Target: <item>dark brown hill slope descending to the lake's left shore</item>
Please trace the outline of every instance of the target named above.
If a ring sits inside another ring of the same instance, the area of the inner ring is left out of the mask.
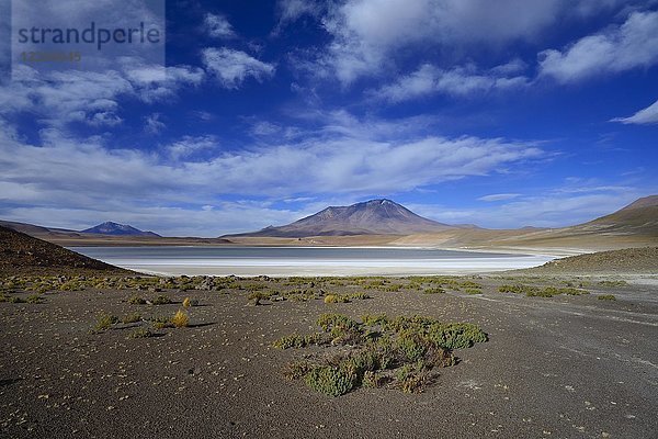
[[[131,273],[128,270],[0,226],[0,275],[70,274],[71,272]]]

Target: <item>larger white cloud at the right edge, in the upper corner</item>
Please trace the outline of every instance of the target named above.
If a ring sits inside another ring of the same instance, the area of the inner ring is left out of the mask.
[[[658,63],[658,12],[633,12],[620,26],[540,57],[540,75],[563,83],[653,66]]]

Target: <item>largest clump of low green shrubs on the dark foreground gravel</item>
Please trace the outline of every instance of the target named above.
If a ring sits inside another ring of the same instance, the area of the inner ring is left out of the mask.
[[[451,349],[486,341],[487,335],[473,324],[443,324],[429,317],[365,315],[362,323],[341,314],[322,314],[318,320],[324,333],[291,335],[274,342],[276,347],[326,345],[331,339],[333,354],[324,361],[305,359],[288,364],[288,379],[305,378],[318,392],[338,396],[359,386],[392,386],[404,392],[421,392],[431,382],[433,368],[455,364]],[[373,329],[376,330],[373,330]],[[321,340],[321,341],[318,341]]]

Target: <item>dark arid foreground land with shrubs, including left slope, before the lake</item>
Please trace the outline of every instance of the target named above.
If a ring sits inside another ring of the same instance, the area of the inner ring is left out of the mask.
[[[658,431],[656,247],[468,277],[158,278],[0,232],[1,437]]]

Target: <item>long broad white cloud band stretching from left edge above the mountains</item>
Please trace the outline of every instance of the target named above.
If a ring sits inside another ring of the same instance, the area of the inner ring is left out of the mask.
[[[16,205],[87,210],[110,209],[123,200],[137,207],[180,200],[214,205],[227,195],[358,196],[487,176],[544,155],[532,144],[409,135],[411,128],[405,138],[383,140],[383,133],[406,124],[356,125],[347,116],[344,123],[334,117],[327,126],[300,132],[294,143],[260,143],[235,150],[217,148],[214,137],[186,136],[159,154],[110,148],[100,137],[73,138],[59,130],[42,132],[43,145],[34,146],[2,130],[0,198]]]

